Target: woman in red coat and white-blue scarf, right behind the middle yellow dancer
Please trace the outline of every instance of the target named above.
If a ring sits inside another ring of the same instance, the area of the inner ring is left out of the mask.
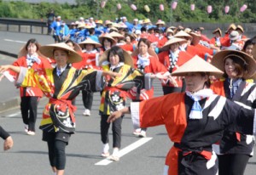
[[[143,71],[144,73],[152,73],[157,74],[161,73],[166,76],[169,76],[170,73],[167,71],[166,67],[162,65],[157,57],[157,54],[154,53],[152,49],[150,49],[150,42],[146,38],[141,38],[137,44],[137,50],[135,50],[131,56],[133,58],[134,67],[139,71]],[[170,83],[175,84],[176,82],[170,76]],[[134,92],[137,93],[137,92]],[[145,99],[151,99],[154,96],[154,88],[149,90],[142,89],[139,92],[139,96],[134,97],[133,101],[142,101]],[[134,135],[138,137],[145,138],[146,137],[146,129],[147,128],[135,128],[136,130],[133,132]]]

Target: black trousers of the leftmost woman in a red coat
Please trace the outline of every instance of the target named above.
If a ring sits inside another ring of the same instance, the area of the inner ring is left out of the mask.
[[[20,110],[23,122],[28,125],[29,131],[36,131],[35,125],[38,115],[38,97],[21,97]]]

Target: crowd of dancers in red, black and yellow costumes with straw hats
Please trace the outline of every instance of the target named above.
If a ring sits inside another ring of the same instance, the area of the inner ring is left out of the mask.
[[[174,144],[164,174],[241,175],[253,156],[256,133],[254,41],[242,38],[241,29],[232,24],[223,38],[219,29],[213,31],[214,43],[199,28],[180,27],[140,36],[113,29],[99,36],[99,42],[87,38],[40,46],[30,39],[19,59],[1,65],[0,73],[20,88],[28,135],[36,132],[38,100],[43,94],[49,98],[39,128],[57,175],[64,174],[65,149],[75,133],[79,91],[84,116],[90,116],[93,93],[101,93],[102,157],[119,161],[122,119],[131,114],[138,137],[146,137],[148,127],[166,126]],[[164,93],[158,98],[152,87],[155,78]],[[132,100],[128,107],[126,98]]]

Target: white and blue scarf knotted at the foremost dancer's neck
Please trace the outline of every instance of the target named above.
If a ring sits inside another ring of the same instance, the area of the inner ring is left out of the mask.
[[[201,105],[199,104],[199,100],[210,97],[213,94],[212,89],[206,88],[196,93],[186,91],[186,94],[194,100],[194,104],[189,114],[189,119],[202,119],[202,109]]]

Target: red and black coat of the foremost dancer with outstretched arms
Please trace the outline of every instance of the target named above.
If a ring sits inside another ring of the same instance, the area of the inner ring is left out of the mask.
[[[194,159],[187,159],[186,155],[178,157],[177,152],[190,151],[192,155],[195,153],[194,150],[201,150],[202,154],[204,150],[212,152],[212,144],[222,137],[225,128],[232,125],[236,131],[252,134],[253,125],[256,126],[253,123],[255,110],[242,108],[216,94],[212,94],[202,104],[204,110],[201,120],[189,120],[189,109],[192,105],[193,100],[185,93],[171,93],[140,103],[131,103],[131,119],[134,127],[165,125],[168,137],[172,142],[181,145],[182,150],[172,147],[166,156],[166,167],[168,167],[166,172],[169,175],[195,174],[197,170],[202,169],[206,172],[201,174],[216,174],[216,172],[210,173],[212,168],[218,170],[216,168],[218,164],[214,161],[216,156],[214,159],[212,155],[209,161],[209,158],[205,157],[204,160],[202,156],[199,167],[193,167],[194,164],[189,162]],[[184,169],[178,172],[178,166],[181,163]],[[185,170],[186,167],[188,168]],[[189,170],[190,173],[183,172]]]

